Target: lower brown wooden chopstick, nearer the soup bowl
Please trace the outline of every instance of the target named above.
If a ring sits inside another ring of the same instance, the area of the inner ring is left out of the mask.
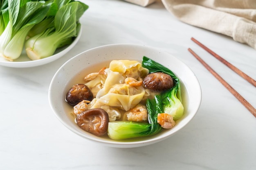
[[[207,63],[205,63],[195,52],[193,52],[193,50],[190,48],[188,50],[196,59],[198,59],[198,61],[200,61],[200,63],[202,63],[202,65],[204,65],[207,70],[209,70],[209,72],[211,72],[211,74],[213,74],[213,76],[218,79],[218,81],[220,81],[220,83],[222,83],[222,85],[224,85],[229,90],[229,92],[231,92],[231,94],[233,94],[253,114],[253,116],[256,117],[256,109],[249,102],[247,102],[245,98],[236,92],[236,90],[231,87],[229,83],[227,83],[219,74],[217,74]]]

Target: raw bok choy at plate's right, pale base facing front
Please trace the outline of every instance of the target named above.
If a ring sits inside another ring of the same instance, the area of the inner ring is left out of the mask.
[[[27,39],[25,48],[28,57],[32,60],[49,57],[57,48],[71,44],[73,37],[79,33],[79,18],[86,9],[88,6],[79,1],[63,5],[54,17],[53,27]]]

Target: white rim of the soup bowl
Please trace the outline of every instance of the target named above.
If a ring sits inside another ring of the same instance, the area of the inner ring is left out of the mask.
[[[88,53],[90,51],[94,51],[94,50],[98,50],[99,48],[111,48],[111,47],[120,47],[120,46],[130,46],[130,47],[135,47],[135,48],[147,48],[147,49],[151,49],[151,50],[158,50],[158,51],[161,51],[161,53],[163,54],[166,54],[166,55],[169,55],[169,56],[172,56],[174,57],[175,59],[177,59],[181,64],[183,64],[191,73],[194,74],[194,72],[191,70],[191,68],[189,68],[188,65],[186,65],[183,61],[181,61],[180,59],[178,59],[177,57],[159,49],[159,48],[153,48],[153,47],[150,47],[150,46],[145,46],[145,45],[138,45],[138,44],[108,44],[108,45],[103,45],[103,46],[97,46],[97,47],[94,47],[94,48],[91,48],[91,49],[88,49],[88,50],[85,50],[77,55],[75,55],[74,57],[70,58],[69,60],[67,60],[57,71],[56,73],[54,74],[53,78],[52,78],[52,81],[50,82],[50,85],[49,85],[49,95],[48,95],[48,99],[49,99],[49,104],[50,104],[50,107],[52,108],[52,110],[54,111],[54,114],[56,116],[56,118],[58,118],[58,120],[67,128],[69,129],[70,131],[74,132],[75,134],[85,138],[85,139],[88,139],[88,140],[91,140],[91,141],[94,141],[94,142],[97,142],[97,143],[100,143],[100,144],[104,144],[106,146],[110,146],[110,147],[116,147],[116,148],[132,148],[132,147],[140,147],[140,146],[146,146],[146,145],[149,145],[149,144],[154,144],[154,143],[157,143],[157,142],[160,142],[172,135],[174,135],[175,133],[177,133],[177,131],[179,131],[180,129],[184,128],[184,126],[186,126],[196,115],[196,113],[198,112],[198,109],[200,108],[200,105],[201,105],[201,102],[202,102],[202,89],[201,89],[201,86],[200,86],[200,83],[198,81],[198,78],[195,76],[195,83],[197,84],[197,88],[198,88],[198,101],[197,101],[197,105],[198,107],[196,107],[194,110],[193,110],[193,114],[189,114],[188,117],[187,117],[187,122],[181,126],[180,128],[178,129],[174,129],[171,133],[171,135],[165,135],[165,136],[160,136],[160,137],[153,137],[151,139],[146,139],[146,140],[142,140],[142,141],[131,141],[131,142],[120,142],[120,141],[110,141],[110,140],[102,140],[100,137],[92,137],[92,136],[85,136],[83,134],[81,134],[80,132],[76,131],[75,129],[73,129],[69,124],[67,124],[65,121],[63,121],[61,119],[61,116],[59,116],[58,113],[56,113],[55,109],[54,109],[54,106],[52,105],[52,98],[51,98],[51,87],[54,83],[54,79],[58,76],[58,73],[63,69],[63,67],[65,67],[66,65],[68,65],[68,63],[70,63],[70,61],[78,58],[79,56],[81,56],[82,54],[85,54],[85,53]],[[181,80],[182,81],[182,80]]]

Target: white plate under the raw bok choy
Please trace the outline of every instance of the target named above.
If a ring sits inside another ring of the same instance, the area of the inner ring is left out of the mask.
[[[44,59],[39,59],[39,60],[33,61],[33,60],[29,59],[29,57],[27,57],[26,51],[25,51],[25,49],[23,49],[21,56],[14,61],[8,61],[8,60],[4,59],[3,57],[0,57],[0,65],[7,66],[7,67],[13,67],[13,68],[29,68],[29,67],[35,67],[38,65],[50,63],[52,61],[55,61],[56,59],[59,59],[60,57],[65,55],[69,50],[71,50],[78,42],[79,38],[81,37],[81,34],[82,34],[82,27],[79,31],[79,34],[72,42],[72,44],[70,44],[69,46],[64,46],[62,48],[58,48],[54,52],[54,55],[52,55],[50,57],[46,57]]]

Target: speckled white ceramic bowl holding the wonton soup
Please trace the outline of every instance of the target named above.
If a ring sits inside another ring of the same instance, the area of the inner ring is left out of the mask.
[[[79,128],[71,116],[72,109],[70,108],[72,107],[65,102],[65,95],[68,89],[76,83],[84,83],[83,77],[86,74],[97,72],[104,66],[108,67],[110,61],[114,59],[141,61],[143,56],[166,66],[180,78],[184,116],[180,120],[177,120],[176,125],[172,129],[162,131],[157,135],[124,141],[112,140],[107,137],[97,137]],[[201,87],[198,79],[186,64],[162,50],[132,44],[101,46],[76,55],[59,68],[49,86],[50,106],[58,120],[68,129],[85,139],[118,148],[146,146],[170,137],[182,129],[195,116],[200,107],[201,98]]]

